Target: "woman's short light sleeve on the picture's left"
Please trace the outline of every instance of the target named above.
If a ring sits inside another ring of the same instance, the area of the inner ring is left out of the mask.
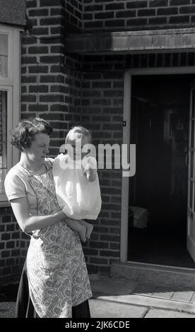
[[[8,172],[4,186],[8,201],[11,201],[15,198],[26,197],[25,184],[20,179],[18,174],[14,172]]]

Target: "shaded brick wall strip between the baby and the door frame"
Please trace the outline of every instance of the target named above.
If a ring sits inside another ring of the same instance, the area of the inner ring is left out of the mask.
[[[93,143],[122,143],[123,56],[83,57],[82,124],[92,131]],[[121,170],[99,170],[102,210],[88,247],[90,273],[109,273],[119,260],[121,220]]]

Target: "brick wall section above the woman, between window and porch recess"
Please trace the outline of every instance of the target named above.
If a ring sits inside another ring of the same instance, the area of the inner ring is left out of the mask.
[[[27,1],[33,28],[22,40],[21,114],[22,119],[39,115],[51,122],[50,153],[56,155],[69,126],[80,121],[80,61],[78,56],[64,57],[64,4],[68,2],[40,0],[39,7],[38,3]]]

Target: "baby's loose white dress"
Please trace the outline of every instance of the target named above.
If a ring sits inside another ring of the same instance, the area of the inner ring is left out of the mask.
[[[83,167],[87,165],[97,169],[95,158],[84,158]],[[57,201],[61,209],[70,218],[98,218],[102,206],[98,172],[94,182],[88,181],[83,174],[81,160],[71,160],[63,153],[57,155],[53,163],[53,177]]]

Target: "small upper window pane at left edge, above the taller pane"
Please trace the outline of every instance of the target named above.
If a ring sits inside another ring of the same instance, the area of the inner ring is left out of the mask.
[[[8,36],[0,33],[0,77],[8,77]]]

